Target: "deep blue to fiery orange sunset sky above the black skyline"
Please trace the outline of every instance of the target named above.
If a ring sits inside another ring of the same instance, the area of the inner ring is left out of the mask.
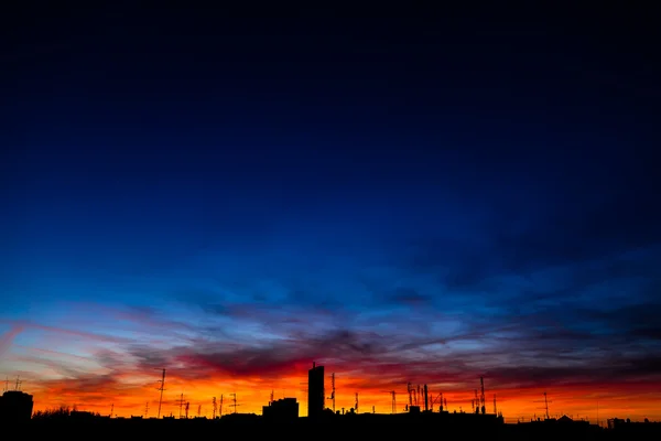
[[[278,12],[10,17],[9,387],[304,416],[316,362],[337,409],[661,419],[650,15]]]

